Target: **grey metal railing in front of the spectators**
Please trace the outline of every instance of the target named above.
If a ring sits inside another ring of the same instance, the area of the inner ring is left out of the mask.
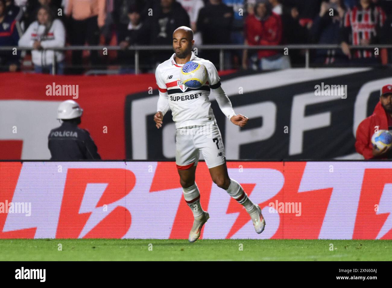
[[[22,51],[30,51],[34,50],[32,47],[12,47],[12,46],[3,46],[0,47],[0,51],[13,51],[13,49],[19,49]],[[295,44],[295,45],[194,45],[193,49],[200,50],[219,50],[219,63],[220,63],[220,71],[224,69],[224,51],[225,50],[281,50],[289,51],[292,50],[305,50],[305,68],[309,68],[310,65],[310,50],[317,49],[341,49],[339,44]],[[350,46],[350,49],[383,49],[383,48],[392,48],[392,44],[380,44],[380,45],[357,45]],[[80,50],[97,50],[104,51],[107,50],[117,50],[117,51],[135,51],[135,74],[139,74],[139,51],[141,50],[169,50],[172,51],[172,45],[131,45],[125,49],[120,46],[66,46],[66,47],[57,47],[57,48],[48,48],[42,49],[42,51],[80,51]],[[56,74],[56,53],[53,53],[53,63],[52,63],[52,74]]]

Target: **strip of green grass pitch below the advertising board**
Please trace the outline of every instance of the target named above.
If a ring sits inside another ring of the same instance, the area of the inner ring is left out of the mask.
[[[0,251],[0,261],[391,261],[392,241],[0,239]]]

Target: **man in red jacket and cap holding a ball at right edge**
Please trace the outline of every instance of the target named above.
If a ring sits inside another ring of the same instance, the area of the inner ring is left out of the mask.
[[[365,159],[392,159],[392,149],[385,147],[377,150],[372,145],[372,136],[377,130],[392,132],[392,85],[385,85],[381,89],[380,101],[374,112],[363,120],[356,132],[355,149]]]

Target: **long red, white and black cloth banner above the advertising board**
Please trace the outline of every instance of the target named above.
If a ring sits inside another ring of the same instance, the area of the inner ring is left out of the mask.
[[[232,160],[361,159],[354,148],[356,129],[373,113],[381,87],[392,83],[392,69],[219,74],[235,112],[250,119],[246,129],[233,125],[211,92],[225,155]],[[153,73],[1,75],[7,81],[0,93],[0,159],[49,159],[47,137],[60,125],[57,107],[74,99],[84,109],[80,127],[89,130],[102,159],[174,160],[176,129],[171,110],[163,118],[163,129],[156,129],[153,121],[159,97]],[[342,94],[334,86],[347,89]],[[78,93],[74,96],[64,87],[75,87],[72,91]]]

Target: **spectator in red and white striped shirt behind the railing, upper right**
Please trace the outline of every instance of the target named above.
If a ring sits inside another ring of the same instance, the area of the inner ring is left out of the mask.
[[[374,64],[379,56],[374,49],[355,49],[350,45],[371,45],[379,43],[379,31],[383,27],[386,15],[381,7],[371,0],[360,0],[359,5],[348,9],[342,21],[341,48],[343,53],[356,64]]]

